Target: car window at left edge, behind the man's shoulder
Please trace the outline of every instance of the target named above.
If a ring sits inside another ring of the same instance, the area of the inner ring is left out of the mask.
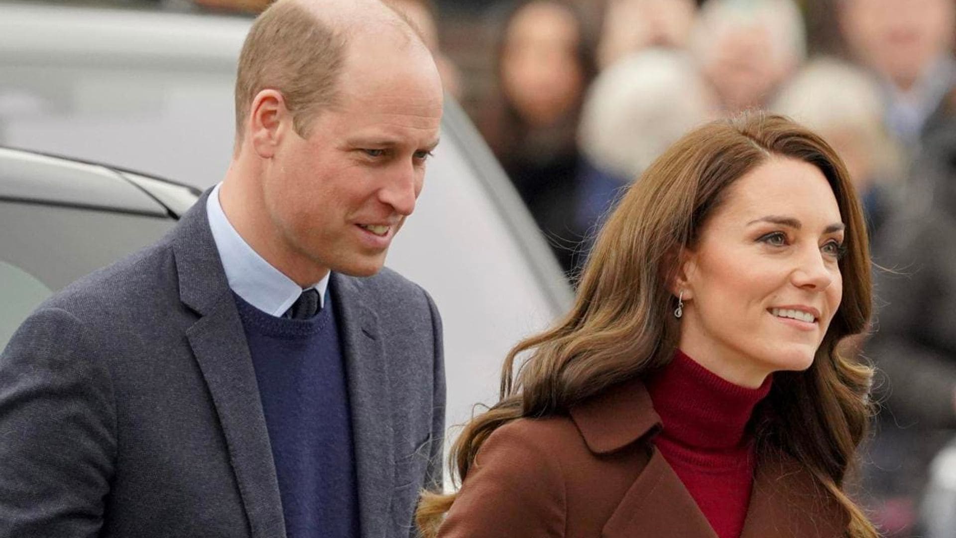
[[[0,348],[37,304],[163,236],[170,218],[0,201]]]

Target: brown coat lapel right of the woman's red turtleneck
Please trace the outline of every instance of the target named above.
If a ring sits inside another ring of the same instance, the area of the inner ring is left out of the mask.
[[[797,461],[760,461],[741,538],[839,538],[847,519],[836,500]]]

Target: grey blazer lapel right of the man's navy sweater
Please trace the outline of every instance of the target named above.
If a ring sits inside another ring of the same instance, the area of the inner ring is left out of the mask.
[[[389,521],[395,454],[391,393],[379,318],[362,301],[361,280],[333,273],[330,292],[348,375],[361,534],[380,537]]]

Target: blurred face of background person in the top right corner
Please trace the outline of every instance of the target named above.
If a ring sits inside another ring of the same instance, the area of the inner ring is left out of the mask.
[[[858,56],[906,88],[951,46],[956,0],[844,0],[840,14]]]

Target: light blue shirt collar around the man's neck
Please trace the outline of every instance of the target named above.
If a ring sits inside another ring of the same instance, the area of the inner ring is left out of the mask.
[[[222,259],[223,269],[226,271],[226,280],[229,288],[259,310],[281,316],[295,303],[302,294],[292,279],[279,271],[265,258],[252,250],[249,243],[236,232],[228,221],[223,206],[219,203],[220,183],[213,188],[206,200],[206,214],[209,218],[209,229],[212,238]],[[315,288],[318,291],[318,305],[325,306],[325,293],[329,285],[329,274],[315,285],[304,289]]]

